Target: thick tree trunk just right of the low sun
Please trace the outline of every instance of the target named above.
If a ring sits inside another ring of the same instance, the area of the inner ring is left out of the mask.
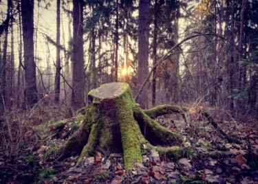
[[[138,89],[142,87],[144,78],[148,75],[149,63],[149,0],[140,0],[139,2],[139,20],[138,20],[138,71],[137,84]],[[147,87],[142,89],[138,97],[138,103],[142,108],[148,106]]]

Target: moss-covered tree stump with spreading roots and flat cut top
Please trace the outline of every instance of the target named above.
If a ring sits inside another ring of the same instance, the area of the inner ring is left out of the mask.
[[[84,122],[57,151],[59,158],[80,153],[80,163],[83,157],[94,154],[95,150],[105,154],[122,152],[125,168],[129,169],[134,163],[142,162],[142,150],[147,148],[154,148],[171,157],[183,152],[179,147],[156,147],[180,145],[182,137],[144,113],[134,102],[129,84],[103,84],[90,91],[88,98]]]

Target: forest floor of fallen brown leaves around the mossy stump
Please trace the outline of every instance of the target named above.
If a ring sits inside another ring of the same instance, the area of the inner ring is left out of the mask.
[[[184,145],[195,152],[175,160],[160,158],[155,150],[142,155],[142,163],[124,170],[122,154],[96,152],[78,166],[78,157],[56,161],[51,150],[59,148],[69,135],[76,118],[70,118],[61,130],[53,130],[50,122],[28,130],[34,139],[24,143],[12,157],[0,150],[0,183],[258,183],[258,121],[217,122],[242,143],[228,143],[199,115],[190,115],[187,126],[179,115],[156,119],[162,126],[184,136]],[[78,122],[76,122],[78,123]],[[35,143],[35,141],[37,143]],[[219,150],[222,155],[200,157],[198,153]]]

